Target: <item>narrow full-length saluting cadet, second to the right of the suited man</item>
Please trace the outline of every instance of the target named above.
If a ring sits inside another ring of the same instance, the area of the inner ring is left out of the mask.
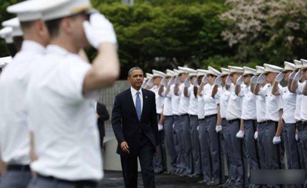
[[[163,115],[164,115],[164,134],[166,150],[168,153],[168,162],[170,169],[168,173],[175,173],[177,170],[177,153],[174,144],[174,134],[173,134],[173,124],[174,118],[171,107],[171,92],[170,87],[174,82],[174,71],[167,69],[166,77],[161,81],[160,91],[161,95],[164,97]]]

